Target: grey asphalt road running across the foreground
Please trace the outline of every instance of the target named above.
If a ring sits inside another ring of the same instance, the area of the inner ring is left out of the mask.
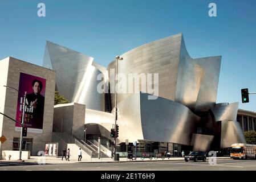
[[[256,160],[233,160],[218,159],[217,165],[210,166],[208,162],[185,161],[159,161],[159,162],[128,162],[128,163],[72,163],[72,164],[47,164],[47,165],[23,165],[23,166],[0,166],[0,171],[27,170],[27,171],[136,171],[136,170],[161,170],[161,171],[226,171],[226,170],[254,170]]]

